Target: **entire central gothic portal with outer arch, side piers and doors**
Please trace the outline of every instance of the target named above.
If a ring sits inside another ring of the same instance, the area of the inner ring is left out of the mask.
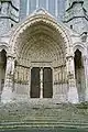
[[[26,19],[10,40],[12,53],[7,69],[10,70],[11,61],[12,73],[6,73],[6,95],[9,89],[14,99],[52,98],[48,100],[55,103],[77,102],[74,59],[68,53],[70,38],[67,36],[65,29],[44,12]]]

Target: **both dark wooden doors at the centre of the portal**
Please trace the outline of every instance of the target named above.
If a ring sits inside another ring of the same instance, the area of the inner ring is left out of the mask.
[[[51,67],[33,67],[31,69],[31,98],[40,98],[41,90],[43,92],[43,98],[53,97],[53,72]]]

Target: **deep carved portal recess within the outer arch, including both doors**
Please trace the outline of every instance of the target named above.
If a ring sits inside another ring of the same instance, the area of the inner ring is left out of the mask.
[[[20,34],[23,40],[18,40],[20,43],[15,47],[15,94],[67,101],[66,51],[63,37],[56,29],[44,22],[34,23],[23,34]]]

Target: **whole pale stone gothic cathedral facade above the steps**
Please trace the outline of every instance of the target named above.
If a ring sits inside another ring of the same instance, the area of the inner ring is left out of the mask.
[[[88,101],[87,34],[87,0],[1,0],[1,101]]]

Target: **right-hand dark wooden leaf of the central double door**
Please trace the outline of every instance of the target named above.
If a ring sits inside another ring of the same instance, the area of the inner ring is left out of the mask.
[[[53,74],[50,67],[43,69],[43,98],[53,97]]]

